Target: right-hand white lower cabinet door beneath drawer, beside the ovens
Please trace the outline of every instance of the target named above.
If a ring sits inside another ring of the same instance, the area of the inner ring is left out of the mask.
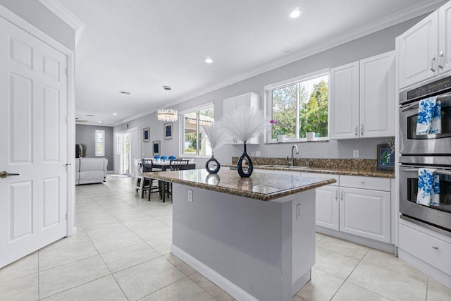
[[[340,188],[340,231],[390,243],[390,192]]]

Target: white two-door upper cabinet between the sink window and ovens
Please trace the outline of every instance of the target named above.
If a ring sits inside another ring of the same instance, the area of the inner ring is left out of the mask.
[[[330,69],[330,139],[395,135],[395,52]]]

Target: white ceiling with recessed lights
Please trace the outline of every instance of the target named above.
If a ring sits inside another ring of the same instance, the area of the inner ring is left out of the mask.
[[[60,2],[85,24],[75,50],[76,115],[88,124],[118,125],[420,16],[446,0]],[[296,7],[303,15],[289,18]],[[205,63],[206,56],[214,63]],[[163,85],[173,90],[165,94]]]

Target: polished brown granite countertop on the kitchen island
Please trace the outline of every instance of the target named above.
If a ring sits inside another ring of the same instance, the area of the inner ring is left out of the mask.
[[[324,179],[319,179],[300,175],[271,175],[255,171],[250,178],[240,178],[237,171],[225,168],[217,174],[209,174],[205,169],[190,169],[143,173],[143,176],[261,201],[271,201],[336,182],[326,175]]]

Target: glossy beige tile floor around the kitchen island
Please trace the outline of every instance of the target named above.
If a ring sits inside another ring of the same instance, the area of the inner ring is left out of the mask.
[[[76,188],[78,234],[0,269],[0,300],[233,300],[170,253],[172,204],[132,179]],[[378,250],[316,234],[312,279],[293,300],[451,300],[451,290]]]

